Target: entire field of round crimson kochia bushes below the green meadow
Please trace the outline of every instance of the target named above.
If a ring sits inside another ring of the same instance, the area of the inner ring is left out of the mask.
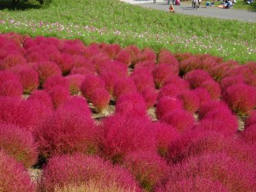
[[[255,108],[253,61],[2,34],[0,189],[256,191]]]

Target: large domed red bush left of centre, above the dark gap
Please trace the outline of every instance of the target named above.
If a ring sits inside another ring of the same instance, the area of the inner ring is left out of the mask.
[[[43,157],[92,153],[96,149],[95,132],[91,116],[85,116],[76,106],[62,106],[40,127],[36,140]]]

